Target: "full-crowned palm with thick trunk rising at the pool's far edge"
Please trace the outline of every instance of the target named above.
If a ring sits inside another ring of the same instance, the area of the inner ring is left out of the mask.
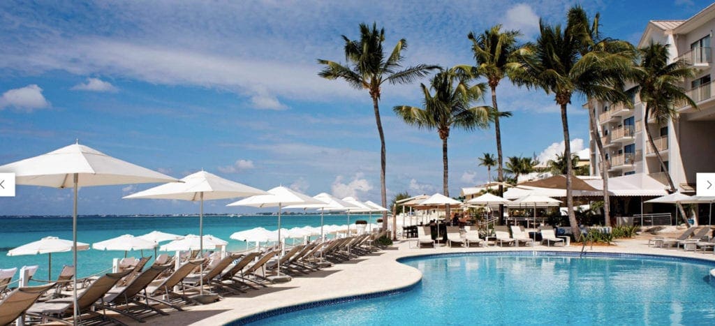
[[[519,50],[523,70],[512,76],[512,81],[530,89],[543,89],[554,94],[561,108],[564,155],[566,156],[566,207],[568,222],[576,239],[581,237],[576,214],[573,212],[573,189],[571,173],[571,137],[568,132],[566,109],[575,92],[605,94],[619,92],[613,87],[613,76],[603,69],[618,66],[617,61],[601,51],[591,51],[581,56],[581,30],[568,21],[566,28],[539,21],[539,36],[536,43]],[[613,69],[613,68],[610,68]]]

